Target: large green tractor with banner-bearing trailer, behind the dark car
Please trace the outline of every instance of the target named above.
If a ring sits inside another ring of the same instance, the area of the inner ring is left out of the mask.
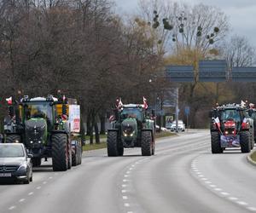
[[[80,107],[74,99],[52,95],[9,101],[4,121],[5,142],[21,142],[32,154],[33,166],[52,158],[55,171],[81,164]]]

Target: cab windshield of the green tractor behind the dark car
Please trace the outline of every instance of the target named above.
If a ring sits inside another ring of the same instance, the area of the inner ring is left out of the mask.
[[[52,121],[52,107],[46,101],[34,101],[26,104],[26,119],[47,118]]]

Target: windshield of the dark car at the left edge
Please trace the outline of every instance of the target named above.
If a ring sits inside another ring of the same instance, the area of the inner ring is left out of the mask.
[[[17,145],[1,145],[0,158],[20,158],[25,157],[24,150]]]

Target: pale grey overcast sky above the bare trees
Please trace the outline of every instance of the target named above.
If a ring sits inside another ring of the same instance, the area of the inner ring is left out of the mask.
[[[139,0],[114,0],[119,14],[132,14]],[[220,8],[229,17],[232,34],[245,36],[256,46],[256,0],[177,0],[181,3],[204,3]]]

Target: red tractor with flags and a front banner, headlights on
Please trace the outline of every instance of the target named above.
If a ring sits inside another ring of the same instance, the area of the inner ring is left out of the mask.
[[[227,104],[212,109],[212,153],[223,153],[228,147],[241,147],[241,153],[250,153],[254,145],[253,119],[247,118],[247,108]]]

